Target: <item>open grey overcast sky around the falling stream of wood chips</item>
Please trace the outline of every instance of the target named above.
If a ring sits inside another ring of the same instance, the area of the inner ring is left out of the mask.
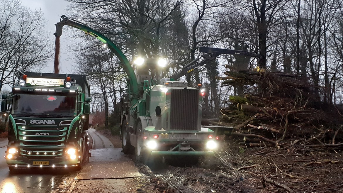
[[[47,20],[46,30],[50,34],[50,38],[55,41],[55,23],[60,21],[60,16],[62,14],[67,15],[68,11],[66,10],[67,6],[70,4],[64,0],[21,0],[22,5],[25,7],[35,10],[41,8],[44,12],[45,19]],[[68,16],[68,15],[67,15]],[[65,32],[65,31],[64,31]],[[60,73],[71,73],[73,64],[72,53],[68,52],[68,46],[72,45],[70,39],[67,39],[65,33],[62,33],[60,38],[61,50],[60,50]],[[47,67],[43,69],[42,72],[54,72],[54,61],[51,60]]]

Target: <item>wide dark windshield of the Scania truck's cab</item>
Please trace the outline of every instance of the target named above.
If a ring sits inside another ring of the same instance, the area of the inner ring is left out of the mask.
[[[13,115],[74,116],[75,96],[17,94],[13,98]]]

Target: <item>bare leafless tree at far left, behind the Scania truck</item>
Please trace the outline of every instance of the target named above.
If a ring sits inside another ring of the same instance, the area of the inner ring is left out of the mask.
[[[39,70],[51,58],[52,46],[44,35],[41,10],[31,11],[20,1],[0,2],[0,90],[13,83],[18,70]]]

